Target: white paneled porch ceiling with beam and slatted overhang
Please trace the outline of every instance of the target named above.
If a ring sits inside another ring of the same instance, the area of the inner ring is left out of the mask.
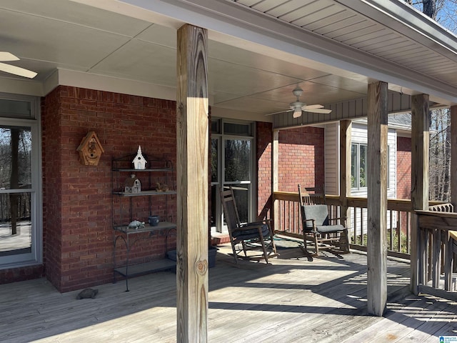
[[[401,10],[406,25],[387,9]],[[219,29],[222,21],[261,38]],[[0,51],[19,56],[8,63],[38,76],[29,81],[0,72],[0,91],[44,95],[87,76],[89,85],[106,90],[124,84],[119,91],[157,96],[154,90],[162,88],[173,99],[176,29],[186,22],[209,29],[209,94],[216,112],[270,120],[263,115],[287,109],[297,84],[308,104],[360,99],[368,82],[387,69],[391,80],[381,81],[393,90],[457,102],[455,37],[434,23],[433,39],[418,33],[416,26],[428,19],[396,0],[2,0]],[[316,54],[284,53],[268,39]],[[324,55],[341,63],[315,57]],[[56,76],[58,69],[65,79]]]

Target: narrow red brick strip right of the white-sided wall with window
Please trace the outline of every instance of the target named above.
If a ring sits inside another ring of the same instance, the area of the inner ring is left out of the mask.
[[[397,198],[411,199],[411,138],[397,138]]]

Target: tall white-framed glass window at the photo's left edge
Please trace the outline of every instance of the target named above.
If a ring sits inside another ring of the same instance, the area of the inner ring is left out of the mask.
[[[0,269],[42,262],[39,98],[0,94]]]

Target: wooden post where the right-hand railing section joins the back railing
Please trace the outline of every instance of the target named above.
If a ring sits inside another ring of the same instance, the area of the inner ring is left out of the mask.
[[[428,209],[428,155],[430,149],[428,94],[411,97],[411,207]],[[411,292],[418,294],[419,228],[411,213]]]

